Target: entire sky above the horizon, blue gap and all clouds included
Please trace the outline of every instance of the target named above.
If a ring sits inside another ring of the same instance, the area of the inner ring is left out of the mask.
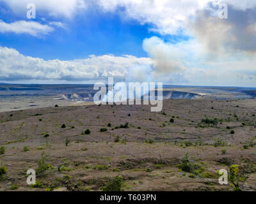
[[[223,3],[0,0],[0,82],[255,86],[256,3]]]

